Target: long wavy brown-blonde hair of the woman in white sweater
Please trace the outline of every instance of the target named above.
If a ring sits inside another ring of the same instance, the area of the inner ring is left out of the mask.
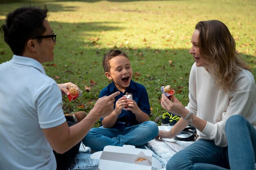
[[[216,85],[226,93],[234,90],[235,78],[241,69],[249,69],[238,51],[227,26],[218,20],[200,21],[195,25],[199,34],[200,55],[209,67]]]

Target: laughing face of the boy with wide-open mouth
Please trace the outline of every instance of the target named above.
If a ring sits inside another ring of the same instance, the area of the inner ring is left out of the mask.
[[[132,79],[130,61],[125,56],[116,56],[109,60],[109,65],[110,72],[106,72],[105,75],[114,82],[121,92],[124,92]]]

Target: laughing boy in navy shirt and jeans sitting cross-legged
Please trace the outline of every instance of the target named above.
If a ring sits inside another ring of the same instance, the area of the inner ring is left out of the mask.
[[[105,75],[112,83],[101,90],[99,97],[117,91],[120,94],[115,97],[114,111],[101,118],[103,126],[92,128],[83,139],[83,144],[92,150],[101,151],[107,145],[139,146],[155,139],[158,126],[148,121],[148,93],[143,85],[132,81],[132,67],[127,55],[123,51],[110,50],[102,63]],[[126,93],[132,94],[132,99],[126,98]]]

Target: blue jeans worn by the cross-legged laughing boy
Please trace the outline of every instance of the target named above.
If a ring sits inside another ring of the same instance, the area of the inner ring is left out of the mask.
[[[101,151],[107,145],[144,145],[155,139],[158,134],[158,126],[153,121],[145,121],[138,125],[126,127],[123,130],[116,128],[92,128],[82,140],[85,146],[95,151]]]

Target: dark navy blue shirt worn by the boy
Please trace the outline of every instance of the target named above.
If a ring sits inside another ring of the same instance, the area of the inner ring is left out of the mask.
[[[117,91],[119,90],[117,89],[115,84],[112,82],[101,90],[99,97],[109,96],[110,94],[113,94]],[[121,92],[118,96],[115,97],[114,109],[115,109],[115,104],[117,100],[122,96],[124,96],[126,92],[132,94],[132,99],[137,103],[140,110],[142,112],[145,112],[149,116],[150,106],[149,106],[148,93],[146,91],[146,88],[143,85],[139,83],[135,83],[132,80],[130,82],[130,85],[127,87],[126,91],[124,93]],[[101,121],[103,119],[104,118],[101,118]],[[137,125],[137,124],[139,124],[139,122],[136,120],[135,114],[133,114],[129,110],[122,110],[121,114],[119,114],[117,118],[115,125],[112,128],[117,128],[119,130],[122,130],[128,126]]]

